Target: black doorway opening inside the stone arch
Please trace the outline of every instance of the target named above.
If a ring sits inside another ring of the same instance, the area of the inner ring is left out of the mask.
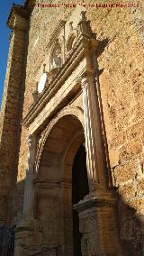
[[[76,157],[72,169],[72,204],[76,205],[89,193],[85,147],[80,146],[76,152]],[[81,253],[81,233],[79,232],[78,213],[73,210],[73,248],[74,256],[82,256]]]

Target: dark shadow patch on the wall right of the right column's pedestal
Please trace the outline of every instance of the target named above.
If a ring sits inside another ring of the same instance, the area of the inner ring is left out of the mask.
[[[125,256],[142,256],[143,248],[143,220],[136,215],[137,210],[124,202],[118,194],[117,217],[121,245]]]

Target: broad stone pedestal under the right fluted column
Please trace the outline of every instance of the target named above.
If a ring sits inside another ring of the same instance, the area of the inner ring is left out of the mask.
[[[96,191],[74,206],[79,213],[83,256],[122,255],[114,191]]]

